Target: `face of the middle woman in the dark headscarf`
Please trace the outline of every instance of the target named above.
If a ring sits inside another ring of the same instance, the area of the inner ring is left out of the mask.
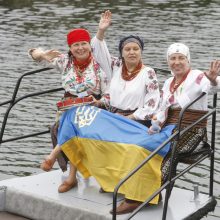
[[[138,65],[141,60],[141,48],[135,42],[127,43],[122,49],[122,57],[128,65]]]

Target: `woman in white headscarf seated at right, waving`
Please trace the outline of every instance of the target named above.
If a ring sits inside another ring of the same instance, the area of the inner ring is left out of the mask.
[[[167,50],[167,61],[173,76],[164,83],[160,110],[154,116],[157,124],[160,125],[176,124],[181,108],[202,92],[216,93],[220,89],[219,60],[213,61],[207,72],[192,70],[189,48],[182,43],[174,43]],[[207,108],[208,95],[206,94],[184,113],[182,125],[187,126],[200,118],[206,113]],[[192,152],[198,143],[206,138],[206,125],[207,121],[204,120],[181,137],[181,141],[177,145],[177,157],[178,154]],[[152,127],[150,131],[152,131]],[[175,166],[177,162],[178,160],[175,158]],[[162,182],[167,180],[169,167],[170,153],[162,164]]]

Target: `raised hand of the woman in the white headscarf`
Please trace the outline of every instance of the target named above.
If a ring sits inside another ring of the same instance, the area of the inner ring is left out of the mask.
[[[213,86],[217,85],[216,78],[219,73],[220,73],[220,60],[212,61],[209,70],[204,72],[204,74],[210,80],[210,82]]]

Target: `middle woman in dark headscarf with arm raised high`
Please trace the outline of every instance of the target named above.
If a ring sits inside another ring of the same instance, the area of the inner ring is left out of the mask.
[[[111,78],[106,95],[97,106],[122,114],[147,126],[159,103],[157,76],[150,66],[142,63],[144,42],[140,37],[130,35],[119,42],[120,57],[112,57],[104,40],[104,34],[111,24],[112,14],[101,15],[99,28],[91,45],[93,54],[102,69]]]

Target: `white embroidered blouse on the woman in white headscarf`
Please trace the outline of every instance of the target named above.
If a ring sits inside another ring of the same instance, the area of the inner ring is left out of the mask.
[[[191,70],[177,90],[172,94],[170,92],[170,84],[173,77],[167,79],[162,88],[162,96],[160,101],[159,110],[157,111],[156,118],[160,122],[165,120],[165,111],[167,108],[183,108],[189,102],[205,92],[206,95],[195,102],[190,109],[207,110],[208,108],[208,93],[215,94],[220,90],[220,77],[217,77],[217,86],[212,86],[205,74],[200,70]]]

